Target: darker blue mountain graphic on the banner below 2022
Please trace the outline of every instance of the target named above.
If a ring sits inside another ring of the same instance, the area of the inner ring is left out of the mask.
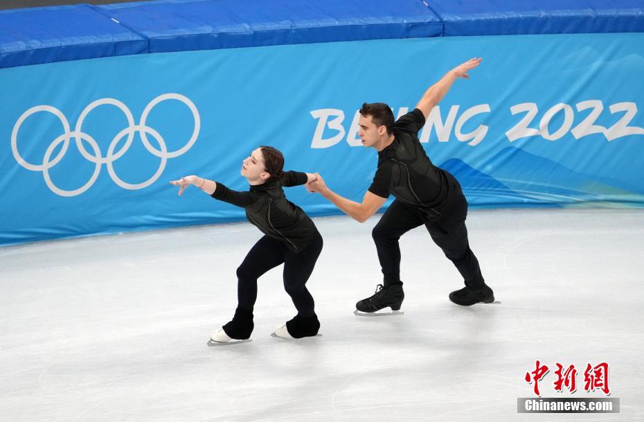
[[[624,186],[623,182],[578,173],[515,147],[504,148],[485,161],[481,169],[472,168],[460,159],[448,159],[440,167],[456,176],[472,204],[482,206],[620,202],[625,195],[634,193],[618,187]]]

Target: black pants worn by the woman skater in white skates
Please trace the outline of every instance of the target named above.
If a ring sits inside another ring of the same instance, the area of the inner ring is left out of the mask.
[[[315,315],[313,297],[306,288],[313,267],[322,252],[322,236],[314,238],[302,252],[292,252],[285,243],[264,236],[251,248],[237,269],[237,297],[240,308],[253,310],[257,300],[257,279],[268,270],[284,263],[284,288],[293,300],[298,315]]]

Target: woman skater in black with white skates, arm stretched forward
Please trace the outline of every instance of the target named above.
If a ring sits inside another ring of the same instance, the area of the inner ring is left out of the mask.
[[[211,335],[213,342],[246,340],[253,332],[253,306],[257,299],[257,279],[284,263],[284,288],[293,300],[297,315],[275,330],[275,335],[293,339],[314,336],[320,322],[314,301],[305,284],[322,251],[322,236],[299,206],[286,199],[283,186],[298,186],[316,179],[311,173],[283,172],[282,153],[260,146],[242,163],[241,175],[250,191],[238,192],[219,182],[195,175],[170,182],[180,186],[179,195],[193,184],[213,198],[240,206],[246,217],[264,236],[251,248],[237,269],[238,306],[228,324]]]

